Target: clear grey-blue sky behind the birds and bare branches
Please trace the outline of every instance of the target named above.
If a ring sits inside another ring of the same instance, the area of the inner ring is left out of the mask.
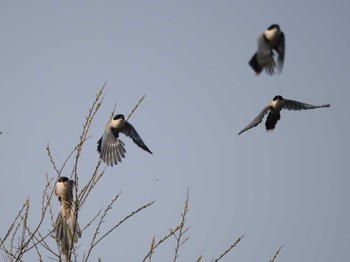
[[[107,168],[79,222],[120,191],[103,229],[156,203],[92,260],[142,260],[151,239],[180,221],[189,188],[190,238],[179,261],[210,261],[242,234],[224,261],[269,261],[281,245],[277,261],[348,261],[349,11],[342,0],[1,1],[0,235],[28,197],[36,224],[44,174],[55,175],[45,147],[61,165],[107,80],[79,181],[98,161],[115,103],[127,115],[146,95],[130,122],[154,155],[121,136],[126,158]],[[248,61],[273,23],[286,35],[284,68],[257,77]],[[263,122],[237,136],[275,95],[331,107],[283,111],[273,133]],[[80,250],[90,241],[87,232]],[[172,239],[154,261],[171,261],[174,247]]]

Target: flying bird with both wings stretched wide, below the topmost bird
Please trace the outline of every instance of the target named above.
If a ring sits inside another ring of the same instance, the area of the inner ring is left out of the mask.
[[[273,131],[275,129],[277,121],[281,119],[280,111],[282,109],[297,111],[297,110],[307,110],[307,109],[315,109],[315,108],[322,108],[322,107],[330,107],[330,104],[315,106],[315,105],[298,102],[295,100],[284,99],[282,96],[277,95],[272,99],[271,102],[269,102],[263,108],[263,110],[259,113],[259,115],[257,115],[254,118],[252,122],[250,122],[245,128],[243,128],[238,133],[238,135],[260,124],[267,113],[269,114],[265,122],[265,127],[267,131]]]

